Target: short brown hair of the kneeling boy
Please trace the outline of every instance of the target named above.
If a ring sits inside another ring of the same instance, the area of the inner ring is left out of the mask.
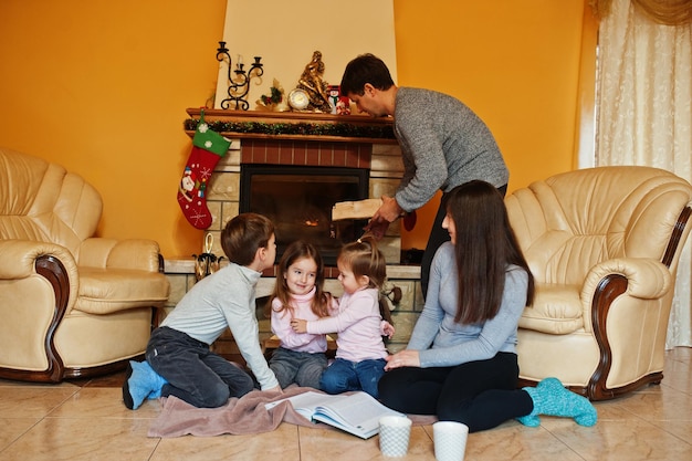
[[[250,265],[260,248],[269,245],[274,223],[265,216],[241,213],[227,222],[221,231],[221,248],[229,261]]]

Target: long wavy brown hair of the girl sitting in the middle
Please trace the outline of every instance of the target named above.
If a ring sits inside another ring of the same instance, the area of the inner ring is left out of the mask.
[[[311,307],[313,313],[318,317],[326,317],[329,315],[329,301],[332,295],[324,291],[324,264],[322,256],[312,243],[307,243],[303,240],[291,243],[281,256],[279,270],[276,271],[276,284],[269,298],[268,307],[271,308],[272,301],[277,298],[281,301],[281,307],[277,308],[276,312],[287,311],[293,313],[291,292],[289,291],[284,274],[293,263],[302,259],[312,259],[315,261],[315,265],[317,266],[315,273],[315,297],[313,297]]]

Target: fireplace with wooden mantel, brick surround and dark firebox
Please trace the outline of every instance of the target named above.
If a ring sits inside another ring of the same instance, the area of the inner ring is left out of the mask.
[[[200,109],[189,108],[187,113],[191,118],[184,127],[193,136]],[[220,235],[229,219],[239,212],[264,210],[277,226],[279,251],[283,252],[289,242],[304,238],[321,245],[325,263],[334,265],[342,243],[360,237],[366,223],[366,220],[339,221],[327,226],[334,202],[392,196],[403,175],[401,153],[388,117],[205,109],[205,121],[232,139],[228,155],[219,160],[207,189],[207,206],[213,217],[207,234],[213,237],[214,254],[223,254]],[[255,174],[263,176],[258,180],[283,182],[282,186],[270,182],[256,187],[261,192],[256,205],[251,186],[254,178],[249,177]],[[336,187],[334,180],[346,185]],[[274,198],[262,197],[272,188],[279,189]],[[298,193],[300,188],[306,190]],[[301,199],[307,196],[314,200],[312,205],[319,211],[318,216],[304,203],[301,205],[303,216],[295,213],[293,197],[296,193]],[[281,205],[289,197],[290,206]],[[287,216],[277,216],[280,212]],[[281,223],[284,218],[295,220],[297,217],[304,226]],[[398,222],[389,227],[378,248],[389,264],[400,262]]]

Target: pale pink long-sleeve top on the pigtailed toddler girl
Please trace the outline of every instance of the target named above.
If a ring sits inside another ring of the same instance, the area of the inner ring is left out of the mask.
[[[359,290],[344,293],[339,298],[338,314],[333,317],[307,322],[307,333],[338,333],[336,357],[361,362],[387,357],[381,336],[379,291]]]

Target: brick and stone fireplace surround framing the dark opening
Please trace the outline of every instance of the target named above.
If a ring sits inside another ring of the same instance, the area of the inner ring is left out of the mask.
[[[188,114],[199,119],[200,109],[188,109]],[[262,124],[310,123],[337,124],[348,123],[355,126],[387,125],[390,119],[374,119],[366,116],[336,116],[314,113],[263,113],[243,111],[205,109],[205,121],[213,123],[258,122]],[[187,130],[192,136],[192,130]],[[226,133],[231,139],[229,153],[221,158],[207,188],[207,206],[213,222],[207,233],[213,235],[212,253],[222,255],[220,245],[221,229],[239,213],[240,171],[244,164],[293,165],[310,167],[348,167],[370,170],[368,195],[378,198],[391,196],[403,172],[399,147],[395,139],[340,137],[328,135],[281,135]],[[387,259],[388,286],[398,286],[402,291],[402,300],[392,312],[397,333],[388,347],[391,352],[403,348],[410,337],[412,325],[422,308],[420,294],[420,268],[400,263],[401,239],[399,223],[390,227],[387,235],[379,242],[379,249]],[[202,250],[200,242],[200,253]],[[171,295],[167,310],[170,310],[182,295],[195,284],[193,259],[167,259],[165,272],[171,282]],[[335,295],[342,294],[340,284],[336,280],[336,268],[326,268],[326,286]],[[268,270],[258,284],[258,297],[271,293],[275,272]],[[229,335],[230,336],[230,335]],[[214,348],[223,355],[239,359],[234,343],[227,336],[214,344]],[[271,336],[269,319],[260,317],[260,338],[262,342]]]

